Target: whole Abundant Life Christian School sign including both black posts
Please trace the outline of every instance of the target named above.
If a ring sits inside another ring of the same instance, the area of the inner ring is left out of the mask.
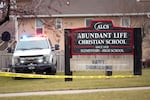
[[[88,55],[89,57],[99,56],[97,59],[100,59],[100,62],[104,62],[99,65],[106,67],[108,65],[112,67],[120,65],[120,68],[125,68],[122,67],[122,62],[128,63],[129,65],[126,66],[131,66],[130,68],[133,69],[134,75],[142,74],[141,28],[116,27],[111,20],[93,20],[89,27],[65,29],[64,37],[65,75],[72,75],[70,71],[70,58],[78,55],[80,57],[87,57]],[[126,57],[126,61],[121,61],[119,59],[121,57]],[[97,59],[94,62],[97,62]],[[114,64],[113,62],[117,63]]]

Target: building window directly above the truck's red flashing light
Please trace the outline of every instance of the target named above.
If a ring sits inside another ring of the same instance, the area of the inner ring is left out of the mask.
[[[41,19],[36,19],[36,34],[40,35],[43,34],[43,22]]]

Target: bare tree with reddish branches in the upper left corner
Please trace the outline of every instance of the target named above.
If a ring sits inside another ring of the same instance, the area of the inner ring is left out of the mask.
[[[52,7],[51,4],[57,2],[57,4],[61,6],[64,1],[61,1],[61,0],[50,0],[50,1],[16,0],[15,2],[15,0],[0,0],[0,25],[5,23],[6,21],[9,21],[10,14],[19,15],[19,16],[33,15],[36,17],[40,13],[41,9],[47,9],[47,12],[49,13],[49,15],[51,15],[51,12],[49,11],[61,13],[59,9]]]

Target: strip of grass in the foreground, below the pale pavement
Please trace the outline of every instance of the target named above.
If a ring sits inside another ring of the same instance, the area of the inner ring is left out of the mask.
[[[46,95],[26,97],[5,97],[1,100],[149,100],[149,90],[96,92],[69,95]]]

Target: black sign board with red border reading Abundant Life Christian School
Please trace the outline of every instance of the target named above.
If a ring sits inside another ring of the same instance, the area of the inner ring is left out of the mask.
[[[111,21],[93,21],[71,31],[72,55],[133,54],[133,29],[114,27]]]

